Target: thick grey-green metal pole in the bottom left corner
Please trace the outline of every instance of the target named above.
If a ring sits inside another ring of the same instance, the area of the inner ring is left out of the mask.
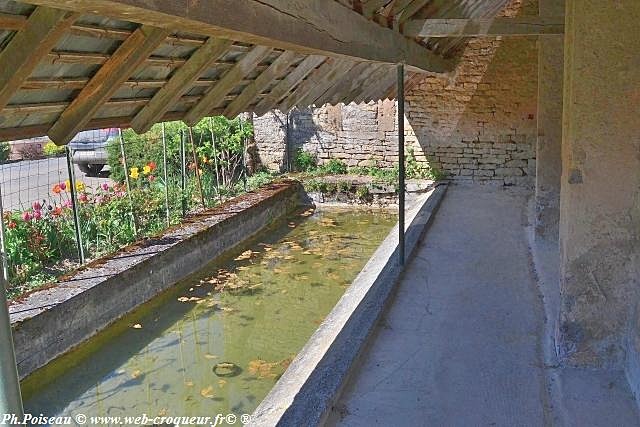
[[[0,420],[9,414],[22,419],[24,412],[5,284],[0,279]]]

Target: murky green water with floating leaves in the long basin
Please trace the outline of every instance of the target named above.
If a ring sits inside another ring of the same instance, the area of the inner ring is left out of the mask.
[[[395,221],[380,211],[292,216],[27,378],[26,412],[251,413]]]

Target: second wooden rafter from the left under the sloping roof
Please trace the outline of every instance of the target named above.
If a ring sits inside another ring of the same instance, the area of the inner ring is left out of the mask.
[[[56,144],[69,142],[140,64],[166,39],[163,29],[142,26],[125,40],[80,91],[48,132]]]

